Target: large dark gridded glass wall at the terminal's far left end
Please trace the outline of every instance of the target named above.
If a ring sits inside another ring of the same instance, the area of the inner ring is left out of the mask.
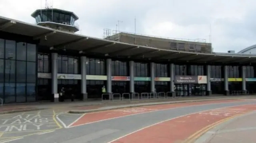
[[[36,45],[0,39],[0,98],[5,103],[36,101]]]

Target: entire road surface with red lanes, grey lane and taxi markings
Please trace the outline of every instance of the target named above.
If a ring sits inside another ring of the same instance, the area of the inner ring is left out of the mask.
[[[67,110],[56,109],[2,114],[0,143],[208,143],[202,142],[208,139],[203,135],[205,127],[254,110],[256,100],[243,99],[84,114],[69,114]]]

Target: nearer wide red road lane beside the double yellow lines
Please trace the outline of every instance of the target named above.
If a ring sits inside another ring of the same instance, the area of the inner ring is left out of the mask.
[[[111,143],[184,143],[190,135],[208,125],[253,110],[256,110],[256,105],[221,108],[190,114],[146,127]]]

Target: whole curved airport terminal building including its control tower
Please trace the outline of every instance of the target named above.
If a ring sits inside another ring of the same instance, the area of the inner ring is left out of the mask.
[[[74,94],[81,100],[101,98],[103,86],[111,95],[256,92],[254,54],[214,53],[211,44],[202,41],[169,39],[168,48],[168,39],[163,43],[150,39],[146,45],[146,40],[98,39],[74,33],[79,29],[78,17],[72,12],[44,9],[32,16],[37,25],[0,17],[0,98],[4,103],[57,102],[62,87],[67,90],[66,99]]]

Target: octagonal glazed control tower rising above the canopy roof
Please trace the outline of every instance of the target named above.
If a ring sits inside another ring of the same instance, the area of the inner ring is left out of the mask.
[[[31,14],[36,19],[36,24],[52,29],[75,33],[79,26],[75,24],[78,16],[73,12],[56,8],[38,9]]]

